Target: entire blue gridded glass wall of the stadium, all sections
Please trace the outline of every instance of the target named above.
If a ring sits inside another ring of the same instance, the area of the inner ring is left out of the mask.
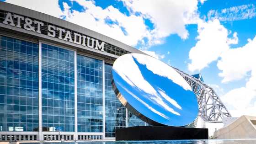
[[[126,127],[126,108],[112,90],[112,64],[42,44],[43,132],[75,132],[75,66],[77,67],[78,132],[103,132],[115,137]],[[38,131],[37,43],[0,36],[0,131]],[[105,85],[103,85],[103,74]],[[103,100],[103,86],[105,100]],[[128,126],[144,125],[128,112]]]

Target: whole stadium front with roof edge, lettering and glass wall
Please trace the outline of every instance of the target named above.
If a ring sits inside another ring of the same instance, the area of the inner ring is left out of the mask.
[[[112,64],[126,53],[143,52],[0,2],[0,141],[114,139],[147,125],[112,90]]]

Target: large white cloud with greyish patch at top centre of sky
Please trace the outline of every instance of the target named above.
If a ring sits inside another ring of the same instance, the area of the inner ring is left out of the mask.
[[[139,12],[154,23],[149,33],[149,46],[163,43],[163,38],[178,34],[182,39],[188,37],[186,24],[196,23],[197,0],[122,0],[131,12]]]

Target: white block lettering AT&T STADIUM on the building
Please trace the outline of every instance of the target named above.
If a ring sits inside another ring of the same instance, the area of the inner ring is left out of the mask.
[[[14,23],[13,19],[16,19],[17,24]],[[21,27],[21,21],[25,22],[23,27]],[[10,12],[8,12],[7,15],[5,16],[5,20],[3,21],[3,23],[6,25],[11,25],[13,27],[24,28],[28,31],[37,32],[37,33],[41,33],[41,27],[44,26],[43,22],[41,22],[41,21],[36,21],[36,20],[33,21],[32,19],[30,19],[28,17],[19,16],[16,14],[14,14],[12,16]],[[37,27],[33,27],[33,23]],[[87,36],[81,35],[76,32],[71,33],[69,30],[66,31],[63,28],[48,25],[47,35],[50,37],[56,37],[56,33],[59,34],[58,38],[62,39],[64,41],[79,44],[79,45],[82,45],[85,47],[87,46],[88,48],[95,48],[96,50],[101,50],[104,52],[104,45],[105,45],[104,42],[100,43],[95,38],[87,37]],[[74,40],[72,39],[72,36],[74,36]],[[85,43],[86,39],[87,39],[87,43]]]

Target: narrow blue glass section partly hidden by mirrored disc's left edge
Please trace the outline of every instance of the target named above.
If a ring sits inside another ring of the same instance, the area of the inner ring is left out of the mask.
[[[106,127],[105,136],[115,137],[117,128],[126,127],[126,109],[117,99],[115,92],[112,89],[112,65],[105,63],[105,115]]]

